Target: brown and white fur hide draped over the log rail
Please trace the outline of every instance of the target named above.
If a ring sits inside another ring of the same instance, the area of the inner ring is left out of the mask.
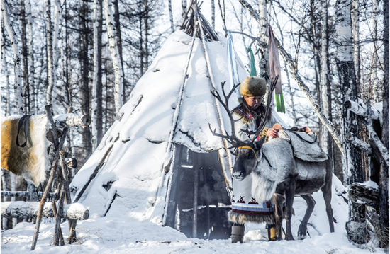
[[[38,186],[45,180],[50,165],[46,139],[48,120],[45,115],[33,115],[28,126],[27,144],[16,145],[18,122],[21,116],[0,117],[0,168],[5,168]],[[26,140],[24,126],[19,132],[19,144]]]

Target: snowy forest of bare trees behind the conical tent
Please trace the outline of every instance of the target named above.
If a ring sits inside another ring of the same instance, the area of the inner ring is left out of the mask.
[[[256,9],[261,7],[262,2],[248,0]],[[384,3],[377,0],[351,2],[353,62],[358,97],[369,99],[374,104],[381,101],[384,85]],[[147,71],[167,36],[179,29],[183,10],[188,4],[186,0],[112,1],[114,36],[123,67],[122,104],[130,97],[135,83]],[[275,36],[293,57],[296,71],[340,133],[344,102],[341,100],[336,64],[338,37],[335,4],[336,1],[326,0],[274,0],[267,1],[267,13]],[[44,105],[52,104],[55,115],[65,113],[72,107],[77,115],[91,118],[89,127],[72,129],[66,145],[79,161],[78,168],[81,168],[118,115],[118,101],[114,96],[115,68],[108,45],[104,2],[13,0],[8,1],[8,6],[9,22],[15,31],[14,40],[19,50],[24,112],[44,114]],[[257,36],[259,33],[259,25],[249,12],[233,0],[205,0],[201,11],[221,36],[226,35],[223,27],[239,32],[233,33],[235,50],[249,73],[247,47],[252,46],[252,51],[257,53],[257,61],[261,58],[259,47],[243,34]],[[3,13],[0,20],[1,117],[18,115],[20,112],[14,92],[14,52]],[[328,139],[328,131],[292,79],[282,57],[281,64],[286,114],[279,115],[291,127],[308,126],[318,133],[324,149],[333,157],[335,174],[343,180],[338,146]],[[48,93],[50,89],[52,93]],[[367,142],[369,136],[364,125],[359,126],[359,134],[359,138]],[[364,178],[369,180],[367,156],[362,156],[361,163]],[[1,174],[6,179],[4,189],[26,190],[23,178],[15,180],[13,175],[4,171]],[[6,199],[4,197],[4,201]]]

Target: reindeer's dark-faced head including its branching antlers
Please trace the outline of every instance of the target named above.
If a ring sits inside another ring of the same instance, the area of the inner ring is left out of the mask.
[[[274,79],[272,79],[271,86],[269,87],[269,93],[267,98],[267,105],[271,104],[272,99],[272,91],[274,91],[274,88],[277,83],[278,76],[276,76]],[[257,137],[259,136],[260,132],[264,129],[265,125],[267,124],[267,117],[264,117],[264,120],[260,124],[260,126],[255,131],[250,131],[248,129],[241,129],[243,132],[252,135],[252,139],[249,140],[240,140],[235,135],[235,122],[240,121],[241,119],[234,120],[233,115],[230,112],[229,109],[229,98],[232,95],[233,91],[235,91],[235,88],[240,86],[240,83],[238,85],[233,86],[232,90],[228,93],[226,96],[225,94],[225,82],[221,83],[222,91],[223,91],[223,97],[225,101],[222,100],[220,94],[216,89],[214,88],[211,93],[214,97],[217,98],[217,100],[223,105],[223,108],[225,108],[226,112],[228,112],[228,116],[230,118],[230,124],[231,124],[231,131],[232,134],[229,135],[225,131],[225,135],[216,133],[216,130],[212,130],[210,127],[211,132],[213,132],[214,136],[222,137],[226,139],[231,146],[229,149],[235,149],[235,164],[233,166],[233,172],[232,176],[233,178],[237,180],[243,180],[247,175],[249,175],[252,171],[255,170],[257,166],[257,159],[260,157],[260,150],[262,149],[262,145],[264,144],[265,137],[262,137],[261,139],[257,140]],[[265,115],[267,116],[269,114],[270,107],[267,107],[267,111]]]

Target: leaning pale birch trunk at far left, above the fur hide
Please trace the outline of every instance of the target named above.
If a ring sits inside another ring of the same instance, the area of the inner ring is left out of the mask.
[[[18,47],[18,40],[16,40],[16,33],[13,30],[12,24],[9,21],[9,8],[6,0],[0,0],[1,15],[3,18],[4,26],[9,34],[9,40],[11,41],[13,51],[13,64],[15,71],[15,80],[13,89],[15,91],[16,108],[18,115],[24,115],[23,108],[23,94],[21,89],[21,52]]]

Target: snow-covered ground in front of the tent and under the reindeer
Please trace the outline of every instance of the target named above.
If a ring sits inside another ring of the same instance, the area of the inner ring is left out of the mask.
[[[333,190],[340,181],[333,180]],[[186,238],[183,233],[170,227],[162,227],[149,220],[124,219],[123,217],[101,217],[79,221],[77,235],[79,243],[67,246],[52,246],[54,223],[46,220],[40,226],[38,245],[30,252],[35,224],[20,223],[14,229],[1,233],[0,254],[13,253],[385,253],[375,241],[363,246],[354,246],[345,233],[347,204],[333,192],[332,207],[335,233],[329,233],[328,218],[322,193],[313,197],[316,207],[308,224],[310,236],[301,241],[268,242],[264,224],[247,224],[244,243],[230,243],[230,240],[203,240]],[[292,219],[293,233],[298,231],[300,219],[306,210],[301,197],[294,200],[295,215]],[[285,228],[285,226],[284,226]],[[67,236],[67,222],[62,231]],[[296,235],[294,236],[296,238]]]

